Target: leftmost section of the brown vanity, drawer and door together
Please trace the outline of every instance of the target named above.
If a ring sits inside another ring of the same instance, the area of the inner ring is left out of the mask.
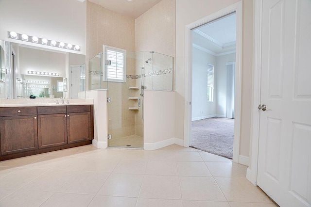
[[[36,107],[0,108],[1,156],[38,149]]]

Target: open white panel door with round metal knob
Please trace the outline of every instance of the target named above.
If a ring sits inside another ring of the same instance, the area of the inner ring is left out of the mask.
[[[263,0],[258,186],[311,207],[311,0]]]

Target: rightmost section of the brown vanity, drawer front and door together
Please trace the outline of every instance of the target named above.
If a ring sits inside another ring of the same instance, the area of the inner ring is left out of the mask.
[[[68,143],[89,141],[93,128],[91,105],[67,106],[67,140]]]

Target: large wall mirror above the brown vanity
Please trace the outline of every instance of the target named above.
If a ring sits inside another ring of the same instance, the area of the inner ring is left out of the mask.
[[[6,97],[1,98],[8,98],[9,87],[14,98],[78,98],[85,91],[85,55],[10,42],[5,48],[10,60],[4,68],[12,72],[3,78],[1,73],[1,80],[12,84],[3,84]]]

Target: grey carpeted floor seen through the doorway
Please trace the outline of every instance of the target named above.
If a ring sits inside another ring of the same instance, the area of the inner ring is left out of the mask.
[[[234,119],[213,117],[192,121],[191,147],[232,159]]]

